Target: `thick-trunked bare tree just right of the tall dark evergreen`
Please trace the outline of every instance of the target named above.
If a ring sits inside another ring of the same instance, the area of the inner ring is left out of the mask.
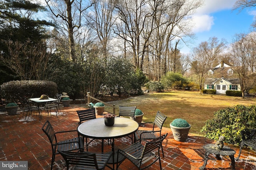
[[[45,0],[58,27],[68,33],[69,57],[76,60],[74,32],[82,25],[82,16],[92,4],[85,6],[82,0]]]

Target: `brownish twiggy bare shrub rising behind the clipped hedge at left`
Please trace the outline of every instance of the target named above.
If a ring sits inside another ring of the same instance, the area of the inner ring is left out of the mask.
[[[0,55],[0,58],[21,80],[48,80],[50,75],[47,71],[50,68],[47,66],[50,55],[46,52],[45,44],[33,45],[30,40],[23,43],[9,40],[6,45],[10,55]]]

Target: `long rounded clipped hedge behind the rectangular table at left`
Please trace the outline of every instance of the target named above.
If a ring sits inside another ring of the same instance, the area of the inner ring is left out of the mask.
[[[39,98],[42,94],[54,96],[58,92],[57,85],[43,80],[17,80],[1,85],[1,96],[6,102],[18,101],[19,96]]]

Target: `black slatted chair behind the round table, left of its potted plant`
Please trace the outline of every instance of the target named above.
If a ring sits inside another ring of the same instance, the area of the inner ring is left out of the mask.
[[[88,121],[91,119],[96,119],[96,113],[95,113],[95,108],[91,108],[91,109],[85,109],[85,110],[77,110],[76,113],[78,114],[79,117],[79,125],[83,122],[83,121]],[[86,141],[86,150],[88,151],[88,145],[94,141],[94,139],[92,139],[91,141],[87,140],[87,137],[85,138]]]

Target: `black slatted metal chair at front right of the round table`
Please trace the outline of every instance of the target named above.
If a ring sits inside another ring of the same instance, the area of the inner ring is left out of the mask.
[[[125,149],[118,149],[117,152],[117,162],[116,169],[118,166],[127,158],[130,160],[139,170],[143,170],[145,168],[150,167],[157,160],[159,160],[160,170],[162,170],[161,159],[160,159],[160,146],[162,145],[162,141],[166,138],[168,133],[162,135],[152,141],[146,141],[141,139],[139,142],[132,144],[130,147],[126,147]],[[145,142],[145,144],[142,144]],[[118,160],[118,155],[121,154],[124,156],[124,159]],[[148,161],[152,161],[147,163]]]

